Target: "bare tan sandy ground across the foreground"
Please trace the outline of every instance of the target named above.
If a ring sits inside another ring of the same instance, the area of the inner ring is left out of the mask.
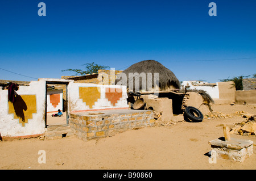
[[[256,106],[213,105],[213,111],[256,114]],[[256,169],[256,136],[232,134],[254,141],[254,154],[243,163],[208,161],[208,141],[223,136],[220,125],[245,120],[237,116],[200,123],[181,121],[169,127],[130,130],[87,142],[76,136],[0,141],[0,169]],[[46,151],[46,163],[38,163],[39,150]]]

